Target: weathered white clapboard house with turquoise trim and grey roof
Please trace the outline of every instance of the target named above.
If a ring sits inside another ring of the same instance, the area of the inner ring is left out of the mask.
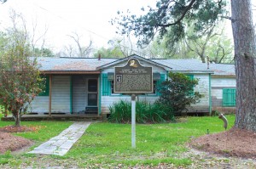
[[[153,71],[153,93],[139,95],[139,100],[153,103],[158,99],[157,87],[173,71],[199,78],[195,91],[203,97],[189,112],[209,113],[236,106],[234,65],[207,65],[198,59],[145,59],[134,54],[124,59],[39,57],[38,64],[47,82],[45,92],[32,101],[29,111],[38,115],[108,114],[108,107],[113,103],[131,100],[131,96],[113,90],[114,67],[125,66],[129,59],[138,59]]]

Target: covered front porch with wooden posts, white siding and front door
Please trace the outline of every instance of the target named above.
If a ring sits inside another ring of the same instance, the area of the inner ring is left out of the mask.
[[[65,118],[69,115],[83,117],[101,115],[99,72],[45,76],[47,79],[45,93],[33,100],[28,110],[30,115],[43,115],[44,119],[48,119],[49,116],[59,117],[55,115],[65,115]]]

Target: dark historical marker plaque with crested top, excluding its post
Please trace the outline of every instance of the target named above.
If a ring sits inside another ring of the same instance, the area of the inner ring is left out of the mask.
[[[137,59],[115,67],[114,93],[153,93],[152,67],[144,67]]]

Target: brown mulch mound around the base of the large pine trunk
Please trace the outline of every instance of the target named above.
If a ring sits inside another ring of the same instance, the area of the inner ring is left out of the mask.
[[[256,160],[256,133],[247,130],[232,128],[226,132],[196,138],[189,145],[218,155]]]

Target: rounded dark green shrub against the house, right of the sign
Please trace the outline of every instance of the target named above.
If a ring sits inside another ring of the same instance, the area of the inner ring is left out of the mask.
[[[158,103],[166,107],[172,107],[176,114],[187,110],[190,104],[195,104],[201,99],[201,94],[194,92],[198,79],[190,79],[183,73],[169,73],[169,80],[162,82],[160,99]]]

